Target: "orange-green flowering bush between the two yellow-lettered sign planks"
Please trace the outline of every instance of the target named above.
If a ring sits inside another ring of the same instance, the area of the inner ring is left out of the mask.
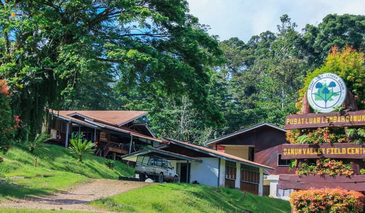
[[[331,144],[331,143],[343,143],[346,141],[345,134],[331,133],[334,129],[318,128],[316,130],[293,129],[287,131],[287,141],[291,144]],[[301,135],[302,132],[308,132]]]

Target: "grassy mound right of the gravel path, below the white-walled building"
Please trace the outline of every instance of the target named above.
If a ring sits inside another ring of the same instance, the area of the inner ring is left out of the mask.
[[[290,212],[290,204],[276,198],[259,197],[247,193],[204,185],[153,184],[113,197],[99,199],[91,205],[116,212]]]

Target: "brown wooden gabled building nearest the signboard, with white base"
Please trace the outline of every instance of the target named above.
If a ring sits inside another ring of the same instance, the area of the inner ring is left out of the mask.
[[[261,123],[208,141],[206,144],[217,151],[274,168],[273,171],[264,171],[263,194],[289,199],[288,195],[292,189],[277,189],[280,174],[295,174],[295,168],[289,170],[290,161],[281,159],[281,147],[289,143],[285,133],[286,130],[283,128],[270,123]],[[228,173],[227,178],[230,179]]]

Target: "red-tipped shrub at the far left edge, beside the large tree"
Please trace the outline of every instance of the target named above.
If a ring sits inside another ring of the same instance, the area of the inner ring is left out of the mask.
[[[13,116],[10,109],[10,95],[7,84],[0,79],[0,152],[6,152],[16,130],[19,128],[20,119]]]

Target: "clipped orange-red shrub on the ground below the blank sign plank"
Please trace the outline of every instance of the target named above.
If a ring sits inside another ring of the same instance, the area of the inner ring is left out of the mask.
[[[343,189],[308,189],[294,191],[289,195],[295,213],[360,213],[364,195]]]

